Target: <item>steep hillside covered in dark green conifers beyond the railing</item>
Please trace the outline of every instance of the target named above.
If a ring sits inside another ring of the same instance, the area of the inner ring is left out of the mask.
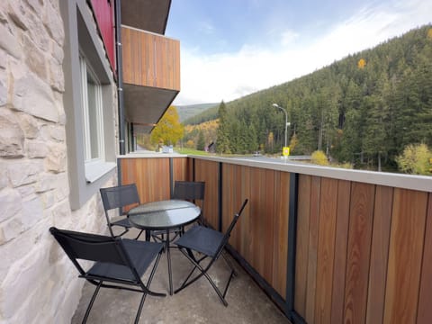
[[[280,151],[284,113],[273,107],[277,103],[288,112],[293,154],[320,149],[340,162],[393,170],[395,157],[408,145],[432,147],[431,58],[432,25],[427,25],[226,103],[229,150]],[[217,109],[194,118],[212,120]]]

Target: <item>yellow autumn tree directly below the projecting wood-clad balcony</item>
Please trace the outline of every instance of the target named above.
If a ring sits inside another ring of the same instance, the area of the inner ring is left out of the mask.
[[[169,106],[162,118],[157,122],[151,131],[151,142],[154,144],[163,143],[175,145],[184,135],[184,126],[180,123],[178,112],[175,106]]]

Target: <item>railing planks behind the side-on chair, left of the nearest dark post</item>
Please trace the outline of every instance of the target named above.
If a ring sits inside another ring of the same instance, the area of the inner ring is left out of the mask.
[[[285,298],[290,175],[229,164],[222,165],[220,174],[219,164],[195,160],[195,179],[206,181],[206,193],[208,185],[218,184],[219,176],[221,197],[213,192],[209,198],[221,200],[222,231],[227,229],[241,203],[249,200],[229,244]],[[218,215],[209,217],[207,210],[205,215],[211,226],[217,228]]]

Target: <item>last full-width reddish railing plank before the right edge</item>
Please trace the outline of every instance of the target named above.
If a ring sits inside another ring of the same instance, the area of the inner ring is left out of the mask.
[[[428,193],[394,190],[384,322],[417,320],[427,206]]]

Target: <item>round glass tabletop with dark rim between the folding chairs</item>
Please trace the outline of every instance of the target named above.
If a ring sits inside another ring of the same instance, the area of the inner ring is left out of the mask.
[[[200,213],[200,207],[193,202],[166,200],[132,208],[128,218],[139,229],[172,229],[196,220]]]

